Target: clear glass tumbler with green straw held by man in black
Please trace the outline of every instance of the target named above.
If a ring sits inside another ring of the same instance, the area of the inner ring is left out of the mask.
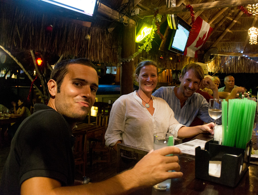
[[[172,133],[154,133],[154,150],[174,145],[174,135]],[[153,186],[157,190],[168,190],[171,186],[171,179]]]

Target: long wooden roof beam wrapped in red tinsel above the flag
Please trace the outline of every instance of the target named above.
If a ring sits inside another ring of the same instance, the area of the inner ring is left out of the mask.
[[[198,3],[192,4],[194,11],[206,10],[206,9],[214,9],[214,8],[223,8],[223,7],[236,7],[239,5],[247,5],[258,3],[258,0],[222,0],[222,1],[213,1],[209,3]],[[149,11],[141,11],[139,13],[140,17],[153,16],[156,9]],[[181,13],[189,11],[185,6],[179,7],[169,7],[169,8],[161,8],[159,9],[160,15],[173,14],[173,13]]]

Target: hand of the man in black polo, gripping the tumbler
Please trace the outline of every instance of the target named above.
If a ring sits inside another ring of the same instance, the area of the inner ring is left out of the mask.
[[[180,178],[179,159],[168,154],[181,154],[181,150],[174,146],[163,147],[150,151],[133,169],[129,170],[141,187],[153,186],[169,178]],[[168,172],[175,170],[175,172]]]

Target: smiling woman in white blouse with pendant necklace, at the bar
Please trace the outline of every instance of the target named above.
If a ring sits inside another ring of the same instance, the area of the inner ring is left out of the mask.
[[[159,72],[156,62],[144,60],[134,71],[139,90],[118,98],[111,109],[109,125],[105,134],[106,145],[117,149],[118,143],[153,149],[153,134],[174,133],[175,140],[200,133],[212,133],[214,123],[185,127],[177,122],[167,102],[152,96]]]

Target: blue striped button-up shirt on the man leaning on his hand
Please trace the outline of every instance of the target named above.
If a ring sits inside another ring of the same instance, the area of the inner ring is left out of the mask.
[[[175,87],[161,87],[152,95],[160,97],[168,103],[170,108],[174,111],[175,119],[177,119],[179,123],[189,127],[196,116],[206,123],[214,121],[208,113],[209,104],[201,94],[193,93],[181,108],[180,101],[175,96],[174,88]]]

